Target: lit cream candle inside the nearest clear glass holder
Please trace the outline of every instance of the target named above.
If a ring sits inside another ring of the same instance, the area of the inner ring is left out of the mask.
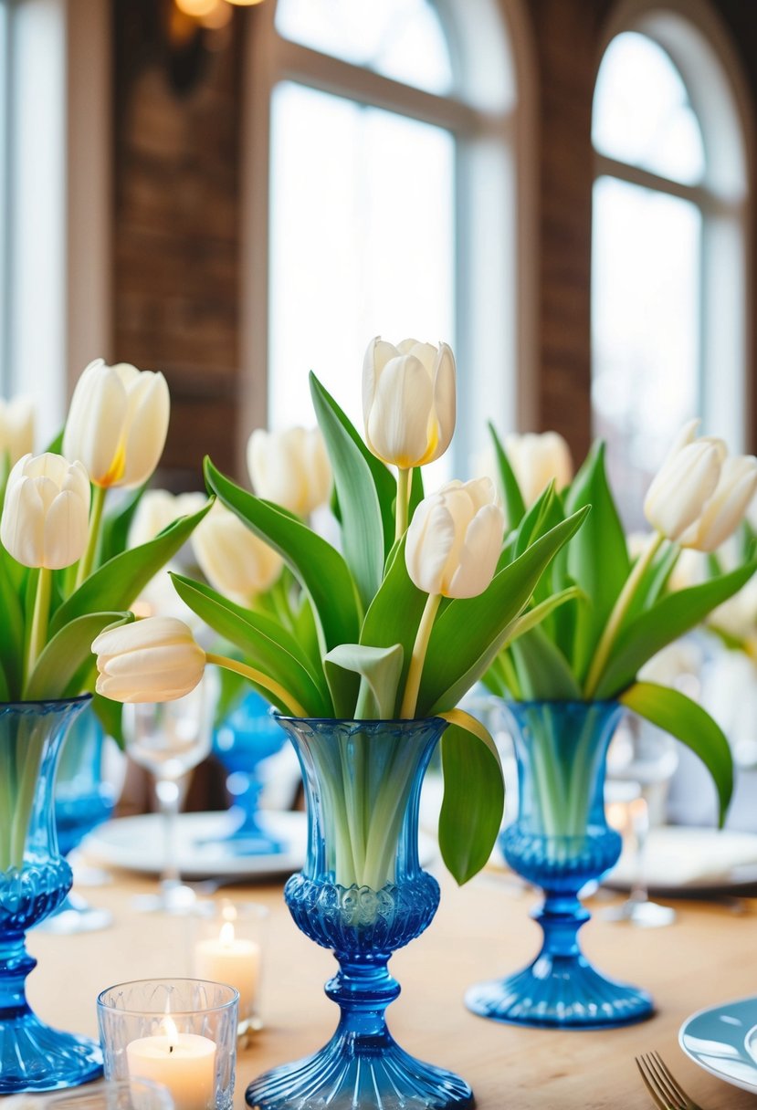
[[[180,1033],[170,1018],[166,1032],[140,1037],[127,1045],[132,1079],[152,1079],[171,1092],[174,1110],[209,1110],[215,1106],[215,1041]]]

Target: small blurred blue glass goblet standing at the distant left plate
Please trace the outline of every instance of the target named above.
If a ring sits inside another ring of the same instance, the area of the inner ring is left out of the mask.
[[[213,754],[229,771],[226,787],[234,797],[232,816],[238,821],[219,845],[235,856],[260,856],[283,851],[284,846],[265,828],[258,804],[262,783],[259,765],[275,755],[286,737],[271,716],[269,703],[250,690],[213,734]]]

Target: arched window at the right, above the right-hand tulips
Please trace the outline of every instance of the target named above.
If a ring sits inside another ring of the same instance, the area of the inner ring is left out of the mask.
[[[747,158],[716,44],[727,51],[649,10],[612,38],[597,74],[592,400],[629,506],[685,421],[702,415],[733,448],[746,437]]]

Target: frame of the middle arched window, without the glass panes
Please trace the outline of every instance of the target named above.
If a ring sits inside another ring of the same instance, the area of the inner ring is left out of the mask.
[[[471,468],[486,418],[501,430],[528,422],[534,403],[529,390],[535,380],[536,266],[523,273],[519,260],[522,245],[528,242],[533,250],[535,240],[535,212],[527,208],[535,193],[534,152],[522,149],[526,141],[533,142],[535,132],[535,65],[521,2],[466,0],[461,6],[455,0],[436,0],[462,89],[450,95],[402,84],[284,39],[275,29],[273,0],[252,9],[244,47],[242,113],[242,372],[236,450],[241,470],[246,437],[268,421],[271,97],[284,80],[452,132],[457,150],[455,353],[462,386],[455,473]],[[488,60],[486,65],[482,62],[482,52],[494,52],[492,72],[497,74],[498,87],[476,85],[481,72],[489,69]],[[501,249],[493,250],[492,242],[497,240]],[[493,273],[486,289],[475,287],[473,276],[486,273],[484,258]],[[501,373],[493,373],[493,367],[501,367]]]

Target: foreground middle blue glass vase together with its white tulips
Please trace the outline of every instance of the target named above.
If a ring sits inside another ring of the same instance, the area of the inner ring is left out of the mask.
[[[465,881],[488,858],[503,808],[496,749],[456,708],[502,647],[553,607],[524,616],[581,508],[503,549],[504,516],[487,480],[423,495],[421,468],[448,446],[455,365],[438,349],[375,340],[363,370],[365,442],[311,376],[334,475],[341,551],[297,515],[205,465],[209,490],[282,557],[299,593],[277,617],[174,576],[182,599],[244,655],[203,653],[181,624],[139,622],[95,640],[99,690],[121,700],[179,696],[205,662],[246,675],[275,706],[305,779],[309,858],[286,885],[296,924],[341,965],[326,990],[340,1028],[315,1056],[274,1070],[252,1106],[468,1106],[450,1072],[408,1057],[384,1010],[398,987],[386,963],[426,928],[438,885],[421,870],[417,809],[438,741],[445,798],[440,842]],[[400,1102],[402,1099],[402,1102]]]

